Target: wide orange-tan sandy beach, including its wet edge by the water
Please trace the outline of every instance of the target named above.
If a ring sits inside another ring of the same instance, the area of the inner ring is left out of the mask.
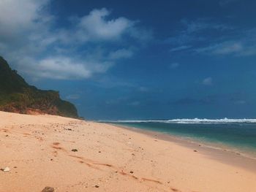
[[[58,116],[0,119],[0,192],[256,191],[256,161],[236,154]]]

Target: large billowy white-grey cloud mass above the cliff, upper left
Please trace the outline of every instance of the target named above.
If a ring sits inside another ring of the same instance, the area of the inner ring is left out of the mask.
[[[59,26],[49,1],[0,1],[0,53],[31,77],[83,79],[107,72],[135,49],[126,41],[146,41],[138,21],[111,18],[108,9],[93,9]],[[150,36],[150,34],[148,33]],[[121,42],[121,43],[120,43]]]

